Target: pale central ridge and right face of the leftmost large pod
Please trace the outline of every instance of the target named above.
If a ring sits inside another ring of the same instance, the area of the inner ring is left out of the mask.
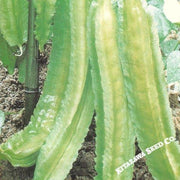
[[[83,110],[83,104],[81,104],[84,102],[84,100],[81,102],[81,99],[84,99],[83,89],[88,68],[86,16],[89,1],[60,0],[59,2],[60,12],[64,9],[64,11],[66,10],[67,12],[66,16],[70,16],[71,70],[69,72],[65,96],[61,103],[60,113],[38,157],[34,176],[35,180],[58,179],[59,177],[63,179],[66,177],[66,173],[70,170],[71,163],[73,163],[74,154],[76,155],[75,151],[80,148],[83,135],[87,132],[87,128],[90,124],[89,120],[92,118],[93,114],[93,103],[91,103],[92,107],[89,107],[88,102],[87,105],[90,112],[86,113],[86,105],[84,105],[85,110]],[[64,20],[62,20],[61,23],[63,25]],[[89,78],[87,81],[89,81]],[[89,95],[86,94],[85,96]],[[83,111],[82,119],[80,117],[81,110]],[[84,113],[88,114],[87,119],[84,119]],[[85,122],[82,123],[83,119]],[[82,125],[85,123],[84,127],[82,127],[85,131],[79,131],[78,135],[76,131],[81,126],[81,123]],[[76,136],[73,136],[73,132]],[[80,140],[76,139],[79,136],[81,137]],[[77,142],[77,144],[75,145],[73,142]],[[68,152],[70,153],[69,157]],[[67,162],[64,162],[65,157],[68,157]],[[67,164],[69,164],[69,166],[67,166]]]

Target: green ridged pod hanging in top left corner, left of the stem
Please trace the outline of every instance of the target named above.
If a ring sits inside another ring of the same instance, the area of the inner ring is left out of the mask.
[[[10,46],[27,40],[28,1],[0,0],[0,30]]]

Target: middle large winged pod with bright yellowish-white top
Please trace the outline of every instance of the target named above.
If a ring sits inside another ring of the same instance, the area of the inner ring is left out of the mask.
[[[129,113],[131,106],[125,96],[119,61],[117,16],[111,1],[99,0],[97,3],[93,2],[92,6],[97,6],[97,11],[93,15],[92,10],[92,18],[89,19],[90,54],[97,108],[98,175],[95,179],[131,179],[132,167],[120,175],[116,172],[120,165],[134,156],[135,141],[131,123],[133,117]]]

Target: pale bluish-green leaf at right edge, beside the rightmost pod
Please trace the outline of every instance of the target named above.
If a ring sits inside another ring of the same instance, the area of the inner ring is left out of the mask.
[[[171,52],[167,58],[167,81],[180,81],[180,51]]]

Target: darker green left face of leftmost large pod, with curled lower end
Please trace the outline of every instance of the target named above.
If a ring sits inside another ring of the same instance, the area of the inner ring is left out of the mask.
[[[31,166],[36,162],[39,149],[49,134],[60,108],[71,69],[69,18],[66,9],[57,9],[47,78],[31,122],[23,131],[0,145],[0,159],[8,159],[14,166]]]

